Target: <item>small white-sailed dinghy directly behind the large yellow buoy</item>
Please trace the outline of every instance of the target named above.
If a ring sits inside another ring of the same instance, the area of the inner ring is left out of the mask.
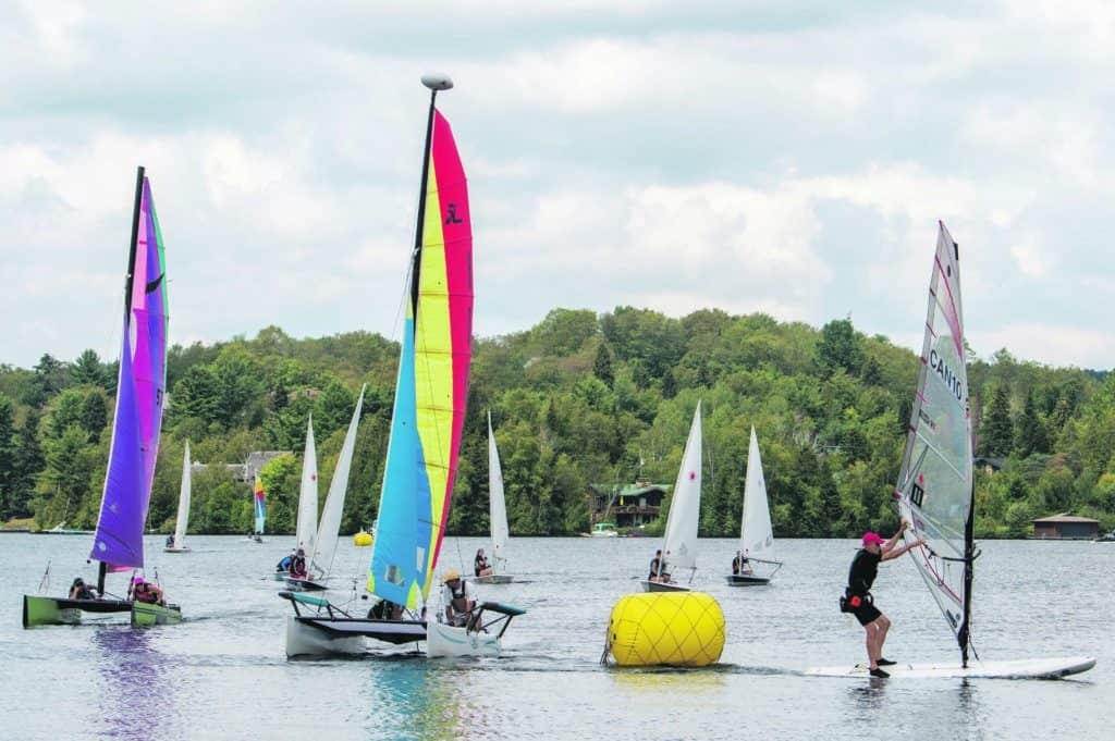
[[[697,526],[700,519],[700,402],[689,427],[686,450],[681,454],[678,480],[673,485],[670,514],[666,518],[659,581],[642,579],[643,592],[688,592],[689,586],[673,581],[675,572],[689,569],[689,582],[697,573]]]

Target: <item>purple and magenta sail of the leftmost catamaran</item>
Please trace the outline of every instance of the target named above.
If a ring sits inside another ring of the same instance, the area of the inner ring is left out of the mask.
[[[93,558],[140,567],[166,387],[166,272],[151,183],[139,169],[113,442]]]

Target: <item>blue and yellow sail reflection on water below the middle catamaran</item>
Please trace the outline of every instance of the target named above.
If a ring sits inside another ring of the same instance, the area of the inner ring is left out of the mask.
[[[377,663],[366,693],[368,738],[449,740],[493,732],[485,699],[468,692],[476,671],[485,671],[483,662]]]

